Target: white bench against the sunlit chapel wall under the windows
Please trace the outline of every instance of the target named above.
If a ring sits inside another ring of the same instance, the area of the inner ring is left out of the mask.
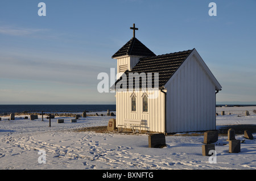
[[[130,127],[133,133],[137,132],[138,130],[141,133],[142,128],[145,128],[147,131],[149,131],[149,127],[147,127],[147,120],[125,119],[123,120],[123,124],[117,125],[118,133],[127,127]]]

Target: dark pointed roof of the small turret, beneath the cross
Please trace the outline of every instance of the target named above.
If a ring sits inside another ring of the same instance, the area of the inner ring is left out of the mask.
[[[151,57],[155,56],[155,53],[143,45],[137,38],[133,37],[125,45],[123,45],[123,47],[112,56],[112,58],[125,55]]]

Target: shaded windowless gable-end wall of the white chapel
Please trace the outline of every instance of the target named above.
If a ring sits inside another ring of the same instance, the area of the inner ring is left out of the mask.
[[[166,84],[167,132],[215,129],[215,86],[194,56]]]

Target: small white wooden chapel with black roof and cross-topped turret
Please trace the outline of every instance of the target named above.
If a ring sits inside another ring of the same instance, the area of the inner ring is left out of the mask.
[[[152,99],[151,92],[142,89],[120,91],[117,85],[126,80],[118,79],[112,86],[117,125],[133,119],[146,120],[150,132],[216,129],[216,93],[222,87],[197,50],[156,56],[135,37],[135,24],[131,29],[134,36],[112,56],[117,59],[117,71],[127,79],[129,73],[158,73],[158,96]]]

